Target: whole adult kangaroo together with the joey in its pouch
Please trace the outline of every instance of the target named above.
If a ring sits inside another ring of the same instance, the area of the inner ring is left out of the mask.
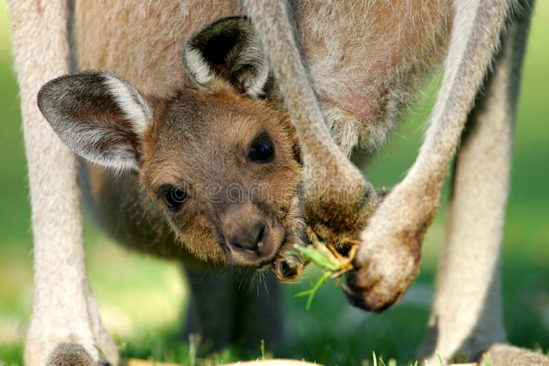
[[[35,254],[25,363],[119,363],[87,280],[73,151],[97,164],[82,164],[83,195],[107,232],[187,262],[191,326],[219,344],[240,337],[276,342],[282,329],[274,280],[268,279],[270,297],[256,300],[204,268],[271,265],[279,278],[293,278],[303,263],[285,249],[307,241],[306,224],[342,252],[360,243],[346,288],[353,305],[390,306],[417,275],[423,234],[468,116],[474,130],[458,154],[445,266],[423,350],[475,357],[505,341],[499,246],[530,3],[9,6]],[[246,14],[254,27],[235,18]],[[441,62],[445,76],[425,142],[381,203],[348,156],[357,145],[370,151],[382,145],[423,77]],[[59,77],[72,71],[82,72]],[[108,174],[112,169],[119,178]],[[250,174],[242,178],[243,171]],[[223,192],[237,183],[249,193],[259,182],[274,199],[246,193],[235,202],[223,194],[208,200],[198,183],[211,180]],[[492,310],[482,311],[486,306]],[[243,324],[235,327],[226,315],[210,319],[221,310]]]

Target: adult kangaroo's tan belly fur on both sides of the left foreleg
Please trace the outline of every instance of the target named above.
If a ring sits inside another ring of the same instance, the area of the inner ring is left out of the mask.
[[[113,71],[159,97],[189,86],[181,62],[189,36],[243,14],[232,0],[81,0],[75,6],[79,68]],[[452,1],[301,0],[290,7],[334,138],[347,153],[361,141],[381,145],[445,54]]]

